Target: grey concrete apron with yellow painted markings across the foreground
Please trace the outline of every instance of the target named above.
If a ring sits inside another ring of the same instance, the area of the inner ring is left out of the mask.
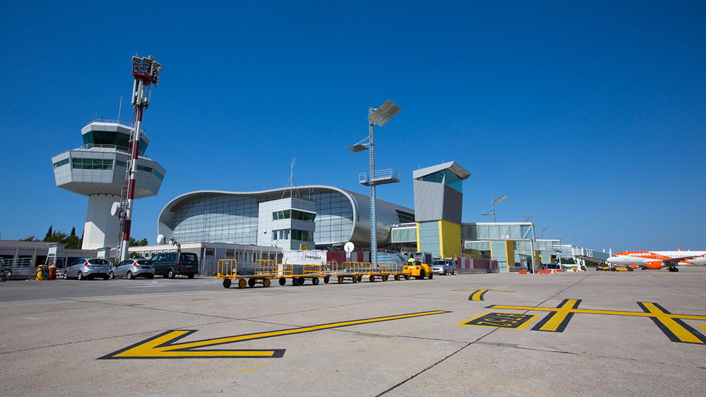
[[[703,396],[706,268],[0,285],[6,396]]]

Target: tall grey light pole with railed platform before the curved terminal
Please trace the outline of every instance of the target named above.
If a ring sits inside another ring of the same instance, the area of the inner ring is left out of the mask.
[[[368,138],[363,139],[354,146],[349,146],[348,150],[354,153],[362,150],[370,150],[370,175],[359,174],[358,180],[361,184],[370,186],[370,263],[375,265],[378,263],[378,227],[376,220],[376,198],[375,186],[378,184],[388,184],[400,182],[400,173],[390,170],[375,171],[375,141],[373,136],[373,126],[384,126],[402,109],[395,105],[393,101],[387,100],[381,107],[368,109]],[[366,142],[367,141],[367,142]]]

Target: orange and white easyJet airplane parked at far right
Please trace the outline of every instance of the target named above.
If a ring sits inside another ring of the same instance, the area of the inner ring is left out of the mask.
[[[678,265],[706,264],[706,251],[626,251],[613,254],[608,263],[628,268],[661,269],[679,271]]]

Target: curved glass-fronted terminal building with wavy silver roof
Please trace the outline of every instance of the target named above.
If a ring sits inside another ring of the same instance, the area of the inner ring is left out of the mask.
[[[258,233],[272,233],[277,230],[277,238],[306,237],[302,241],[314,242],[316,247],[342,245],[354,242],[357,247],[370,244],[370,198],[333,186],[314,185],[299,189],[299,198],[313,201],[316,213],[268,211],[265,218],[270,221],[292,219],[295,225],[289,230],[282,227],[265,227],[258,230],[260,203],[282,199],[283,189],[260,192],[196,191],[174,198],[162,209],[159,219],[159,233],[174,237],[178,242],[229,242],[234,244],[258,244]],[[289,191],[285,192],[287,196]],[[409,208],[379,201],[377,204],[378,246],[390,244],[390,227],[402,220],[414,219]],[[313,208],[312,208],[313,209]],[[315,223],[313,236],[304,236],[305,223]],[[267,229],[271,230],[267,230]],[[301,235],[299,235],[301,231]]]

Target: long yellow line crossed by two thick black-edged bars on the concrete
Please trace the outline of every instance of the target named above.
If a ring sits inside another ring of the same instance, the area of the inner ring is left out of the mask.
[[[686,324],[683,320],[706,321],[706,316],[694,316],[690,314],[671,314],[657,303],[638,302],[643,312],[622,312],[616,310],[590,310],[579,309],[581,300],[563,300],[558,307],[531,307],[531,306],[507,306],[493,304],[488,309],[510,309],[510,310],[530,310],[539,312],[549,312],[539,321],[532,331],[563,332],[571,317],[575,313],[581,314],[609,314],[611,316],[635,316],[648,317],[657,324],[659,329],[673,342],[706,344],[706,336],[695,328]]]

